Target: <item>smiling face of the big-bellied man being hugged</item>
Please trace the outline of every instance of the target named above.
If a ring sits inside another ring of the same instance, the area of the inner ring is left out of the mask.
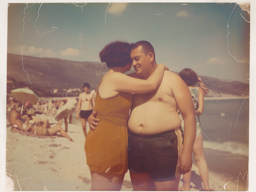
[[[150,71],[150,67],[152,66],[152,64],[150,61],[150,57],[148,55],[145,55],[141,49],[141,45],[135,49],[132,49],[132,66],[134,67],[134,70],[138,75],[145,76],[145,74]]]

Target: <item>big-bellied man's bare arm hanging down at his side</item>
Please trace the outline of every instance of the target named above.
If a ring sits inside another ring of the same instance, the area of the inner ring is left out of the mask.
[[[182,78],[172,73],[170,82],[174,99],[184,119],[183,149],[178,159],[178,166],[180,174],[185,174],[192,167],[192,149],[196,138],[196,114],[190,90]]]

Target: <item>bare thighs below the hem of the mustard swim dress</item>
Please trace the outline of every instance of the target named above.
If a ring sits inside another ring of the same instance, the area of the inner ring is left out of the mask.
[[[120,191],[124,175],[91,171],[92,191]]]

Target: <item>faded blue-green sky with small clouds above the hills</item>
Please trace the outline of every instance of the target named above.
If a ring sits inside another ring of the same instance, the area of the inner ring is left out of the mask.
[[[191,68],[248,83],[248,22],[248,12],[230,3],[10,4],[7,50],[100,62],[99,52],[111,41],[146,40],[156,62],[172,71]]]

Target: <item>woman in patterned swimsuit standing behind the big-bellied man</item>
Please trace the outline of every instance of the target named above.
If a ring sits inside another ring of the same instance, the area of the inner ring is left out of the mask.
[[[202,83],[202,80],[196,72],[192,69],[183,69],[180,72],[180,77],[184,80],[187,84],[190,93],[192,95],[192,100],[194,103],[194,108],[196,111],[196,139],[193,146],[193,153],[196,159],[196,163],[200,172],[200,176],[204,183],[204,189],[206,191],[212,191],[209,187],[208,182],[208,166],[204,158],[204,148],[203,148],[203,137],[201,134],[201,125],[199,116],[202,115],[204,111],[204,94],[209,92],[206,86]],[[196,83],[199,83],[199,87],[195,86]],[[180,114],[180,112],[179,112]],[[181,119],[181,126],[182,130],[184,131],[184,120],[180,114]],[[183,175],[183,186],[178,188],[179,191],[189,191],[190,190],[190,179],[191,179],[191,169],[190,172]]]

